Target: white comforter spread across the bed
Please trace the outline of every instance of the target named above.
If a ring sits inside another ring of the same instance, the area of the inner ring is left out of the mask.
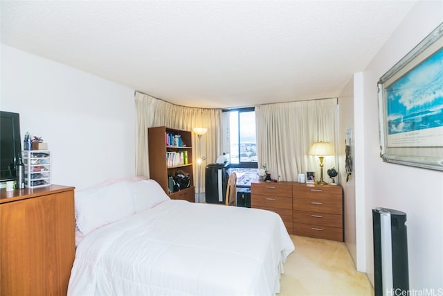
[[[68,295],[273,295],[293,250],[271,211],[168,200],[85,236]]]

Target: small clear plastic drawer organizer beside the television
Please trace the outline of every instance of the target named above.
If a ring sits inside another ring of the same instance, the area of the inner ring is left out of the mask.
[[[51,185],[51,152],[24,150],[25,186],[35,188]]]

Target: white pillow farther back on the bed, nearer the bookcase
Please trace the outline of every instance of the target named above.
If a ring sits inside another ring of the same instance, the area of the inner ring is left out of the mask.
[[[131,187],[132,198],[134,198],[134,211],[136,213],[170,199],[160,184],[154,180],[132,182],[129,183],[129,187]]]

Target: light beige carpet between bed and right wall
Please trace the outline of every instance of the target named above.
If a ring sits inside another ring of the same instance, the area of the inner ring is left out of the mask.
[[[355,269],[345,243],[291,235],[296,250],[284,263],[278,296],[374,295],[368,277]]]

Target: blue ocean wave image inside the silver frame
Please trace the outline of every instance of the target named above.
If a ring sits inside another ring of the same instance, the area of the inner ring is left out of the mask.
[[[388,134],[443,126],[443,49],[386,87]]]

